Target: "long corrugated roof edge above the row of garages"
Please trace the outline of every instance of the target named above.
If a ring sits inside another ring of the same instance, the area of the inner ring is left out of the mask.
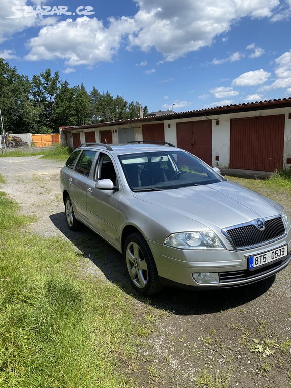
[[[251,103],[222,105],[219,107],[205,108],[205,109],[199,109],[195,111],[185,111],[185,112],[178,112],[178,113],[175,113],[173,111],[161,111],[161,112],[159,111],[158,113],[161,113],[159,115],[148,115],[147,117],[144,117],[142,119],[134,118],[134,119],[110,121],[106,123],[79,125],[79,126],[71,126],[71,127],[60,126],[59,128],[62,129],[64,132],[67,132],[71,130],[99,128],[99,127],[121,125],[121,124],[134,123],[134,122],[146,123],[151,121],[182,119],[182,118],[188,118],[188,117],[205,117],[205,116],[213,116],[218,114],[221,115],[226,113],[251,112],[251,111],[286,108],[286,107],[291,107],[291,97],[283,98],[283,99],[275,99],[275,100],[255,101]],[[166,112],[166,113],[163,113],[163,112]]]

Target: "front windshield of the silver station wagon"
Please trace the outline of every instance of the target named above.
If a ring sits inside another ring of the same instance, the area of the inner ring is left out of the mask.
[[[157,191],[222,182],[211,167],[185,151],[147,152],[119,156],[133,191]]]

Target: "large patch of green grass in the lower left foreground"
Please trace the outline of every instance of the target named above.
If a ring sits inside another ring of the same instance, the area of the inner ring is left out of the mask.
[[[80,275],[86,259],[63,238],[21,231],[32,219],[18,209],[0,193],[0,386],[136,386],[135,300]]]

